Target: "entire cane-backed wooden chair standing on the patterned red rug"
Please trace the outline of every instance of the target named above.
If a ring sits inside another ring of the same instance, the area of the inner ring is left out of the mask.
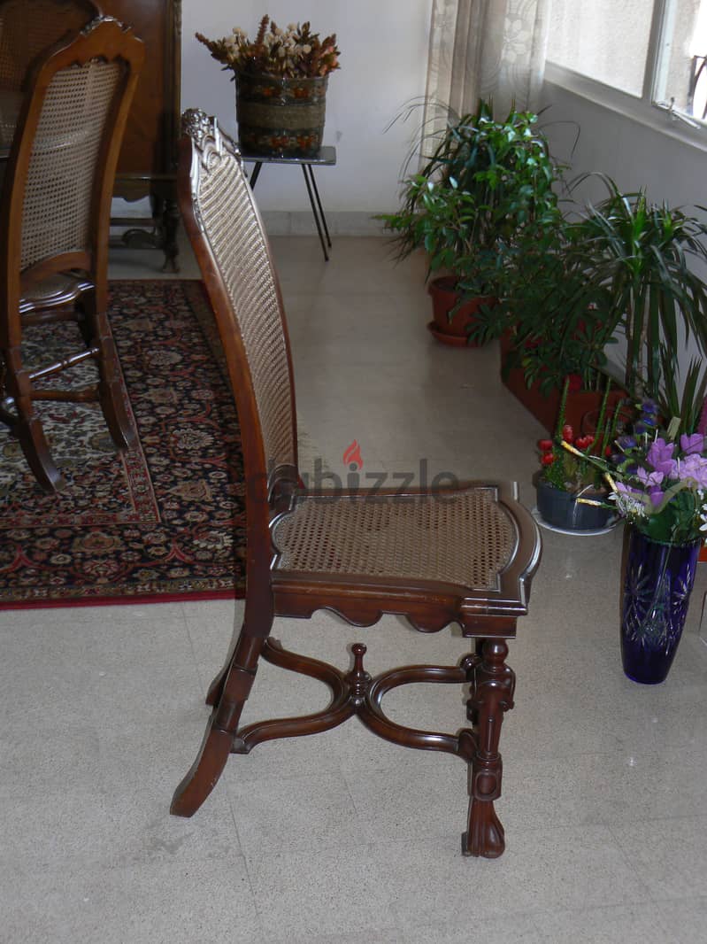
[[[107,321],[107,250],[118,152],[143,56],[130,29],[107,17],[58,42],[31,77],[9,156],[0,204],[0,419],[49,492],[63,480],[35,401],[97,400],[117,447],[135,435]],[[51,330],[70,319],[83,336],[80,349],[28,367],[25,327]],[[46,385],[89,358],[97,384]]]

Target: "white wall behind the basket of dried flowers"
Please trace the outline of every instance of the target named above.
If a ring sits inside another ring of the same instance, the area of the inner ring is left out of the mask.
[[[236,134],[234,84],[196,30],[215,39],[238,25],[254,36],[268,12],[278,25],[308,19],[322,36],[336,32],[341,68],[329,79],[324,143],[337,146],[337,166],[322,168],[317,181],[330,228],[377,230],[370,214],[397,205],[415,122],[386,126],[424,93],[431,10],[432,0],[183,0],[182,108],[215,113]],[[257,196],[271,232],[310,225],[299,167],[264,166]]]

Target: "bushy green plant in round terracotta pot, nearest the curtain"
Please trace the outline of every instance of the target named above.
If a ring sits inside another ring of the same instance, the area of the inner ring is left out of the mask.
[[[495,301],[504,247],[559,213],[552,184],[560,168],[536,123],[537,115],[516,110],[497,121],[480,101],[423,139],[429,156],[403,181],[401,209],[378,217],[395,234],[399,258],[422,248],[428,278],[439,274],[430,285],[433,298],[442,296],[430,326],[439,340],[468,342],[475,312]]]

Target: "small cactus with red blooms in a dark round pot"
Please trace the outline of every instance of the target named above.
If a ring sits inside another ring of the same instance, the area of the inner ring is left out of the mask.
[[[565,381],[553,439],[541,439],[540,472],[535,480],[540,523],[559,531],[599,531],[616,516],[606,504],[608,495],[600,470],[592,456],[603,455],[614,442],[620,413],[609,403],[607,382],[594,429],[576,430],[566,422],[569,381]],[[571,451],[565,445],[571,445]]]

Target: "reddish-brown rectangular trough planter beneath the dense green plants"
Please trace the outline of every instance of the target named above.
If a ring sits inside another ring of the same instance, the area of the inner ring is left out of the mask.
[[[503,335],[501,337],[501,365],[511,347],[510,337]],[[560,409],[560,391],[551,390],[549,394],[543,394],[540,392],[540,384],[537,381],[529,387],[519,367],[514,367],[508,371],[507,376],[505,372],[502,372],[501,379],[526,410],[533,413],[535,419],[552,434],[555,430],[557,413]],[[625,396],[627,395],[624,390],[619,388],[612,390],[609,394],[609,405],[611,407],[616,406],[617,402]],[[565,422],[572,427],[575,433],[589,431],[591,426],[589,414],[598,415],[602,397],[603,394],[600,390],[570,391],[567,395],[565,407]]]

